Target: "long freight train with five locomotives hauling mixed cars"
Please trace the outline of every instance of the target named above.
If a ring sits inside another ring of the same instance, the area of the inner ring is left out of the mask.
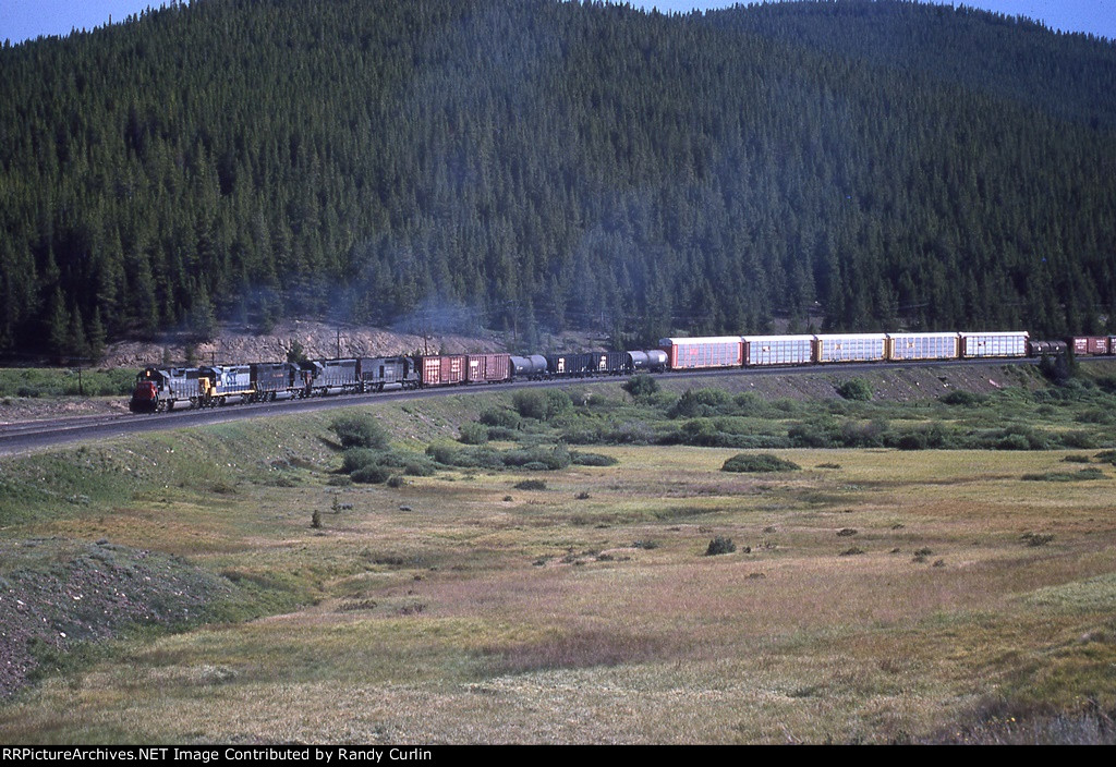
[[[148,367],[129,408],[175,408],[521,380],[843,362],[914,362],[1065,353],[1116,355],[1116,336],[1031,341],[1026,331],[664,338],[658,349],[518,357],[503,353],[355,357],[195,368]]]

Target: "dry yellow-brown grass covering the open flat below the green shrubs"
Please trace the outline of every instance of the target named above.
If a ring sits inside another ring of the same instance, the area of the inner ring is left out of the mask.
[[[739,477],[719,470],[737,450],[595,449],[619,464],[547,491],[306,470],[28,525],[312,603],[123,643],[0,708],[0,739],[891,741],[961,731],[991,692],[1116,701],[1112,476],[1021,479],[1051,453],[779,450],[804,470]],[[863,555],[839,555],[844,528]],[[738,551],[703,556],[716,535]]]

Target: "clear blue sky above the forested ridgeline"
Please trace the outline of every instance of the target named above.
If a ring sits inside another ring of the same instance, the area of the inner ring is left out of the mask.
[[[21,42],[40,35],[93,29],[107,23],[109,18],[114,22],[123,21],[151,4],[151,0],[0,0],[0,41]],[[725,0],[652,0],[632,4],[668,12],[723,8],[732,3]],[[963,4],[1026,16],[1054,29],[1091,32],[1116,40],[1116,0],[969,0]]]

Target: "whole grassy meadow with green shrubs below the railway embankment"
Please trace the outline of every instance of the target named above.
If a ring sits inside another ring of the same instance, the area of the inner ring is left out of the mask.
[[[137,551],[220,588],[39,642],[0,740],[1110,742],[1105,387],[593,384],[2,458],[0,586],[64,582],[80,543],[116,547],[121,592]],[[346,453],[341,416],[387,444]],[[798,468],[722,470],[741,452]]]

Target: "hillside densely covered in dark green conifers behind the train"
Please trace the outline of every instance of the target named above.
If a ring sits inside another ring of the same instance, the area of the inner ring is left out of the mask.
[[[0,49],[0,232],[9,353],[435,310],[1099,331],[1116,45],[892,1],[193,0]]]

